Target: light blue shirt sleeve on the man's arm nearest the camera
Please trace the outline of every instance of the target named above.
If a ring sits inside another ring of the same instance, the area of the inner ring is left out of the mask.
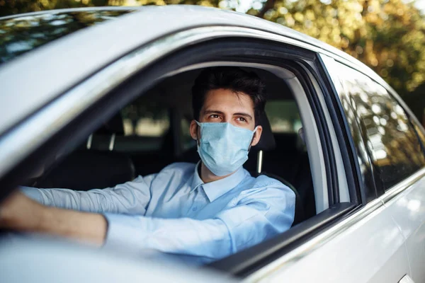
[[[212,219],[106,214],[106,246],[130,245],[133,249],[195,255],[212,261],[288,230],[294,213],[295,195],[290,189],[268,188]]]

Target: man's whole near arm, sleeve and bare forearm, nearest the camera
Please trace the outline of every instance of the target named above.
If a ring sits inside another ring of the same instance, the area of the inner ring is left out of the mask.
[[[213,219],[106,214],[107,222],[101,214],[44,207],[18,193],[0,207],[0,228],[215,260],[288,230],[294,212],[292,191],[268,188],[242,200],[236,207],[225,209]]]

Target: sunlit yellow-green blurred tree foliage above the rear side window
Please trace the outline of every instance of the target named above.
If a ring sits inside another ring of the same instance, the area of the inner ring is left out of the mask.
[[[268,0],[260,10],[248,13],[344,50],[374,69],[403,96],[425,81],[425,25],[413,3]]]

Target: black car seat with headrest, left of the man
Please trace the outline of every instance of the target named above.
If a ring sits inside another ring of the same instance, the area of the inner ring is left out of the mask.
[[[33,186],[90,190],[113,187],[134,179],[135,167],[130,157],[113,151],[115,136],[123,133],[123,120],[119,114],[115,115]]]

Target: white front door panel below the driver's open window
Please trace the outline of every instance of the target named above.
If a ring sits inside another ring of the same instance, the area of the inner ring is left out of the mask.
[[[370,213],[362,217],[368,209]],[[392,211],[379,200],[362,210],[293,250],[300,255],[303,250],[307,255],[295,262],[285,261],[290,254],[285,255],[280,266],[270,267],[272,272],[262,277],[254,274],[250,281],[399,282],[410,274],[409,261]]]

